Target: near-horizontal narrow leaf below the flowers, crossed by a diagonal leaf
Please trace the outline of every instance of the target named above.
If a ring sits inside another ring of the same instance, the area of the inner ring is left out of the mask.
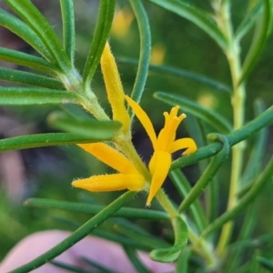
[[[86,203],[55,201],[44,198],[30,198],[25,200],[24,205],[27,207],[44,207],[44,208],[58,208],[70,211],[83,212],[88,214],[96,214],[105,206],[89,205]],[[153,220],[168,220],[167,213],[153,209],[141,209],[134,207],[121,207],[113,217],[139,218],[139,219],[153,219]]]

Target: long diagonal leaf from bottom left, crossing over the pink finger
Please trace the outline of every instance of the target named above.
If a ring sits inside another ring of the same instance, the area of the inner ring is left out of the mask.
[[[123,207],[126,202],[135,197],[136,192],[126,192],[122,196],[116,198],[109,206],[96,214],[95,217],[92,217],[88,220],[83,226],[76,229],[70,236],[64,239],[62,242],[56,245],[56,247],[49,249],[41,256],[35,258],[34,260],[26,263],[20,268],[15,268],[11,273],[22,273],[29,272],[35,268],[43,266],[48,260],[56,258],[60,254],[66,251],[74,244],[76,244],[81,239],[85,238],[92,230],[97,226],[102,224],[106,218],[111,217],[120,207]]]

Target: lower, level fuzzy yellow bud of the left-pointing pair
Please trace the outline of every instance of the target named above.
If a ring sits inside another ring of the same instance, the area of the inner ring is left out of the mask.
[[[93,176],[86,179],[77,179],[72,182],[73,187],[80,187],[92,192],[114,191],[129,189],[132,191],[141,190],[145,181],[141,176],[136,175],[105,175]]]

